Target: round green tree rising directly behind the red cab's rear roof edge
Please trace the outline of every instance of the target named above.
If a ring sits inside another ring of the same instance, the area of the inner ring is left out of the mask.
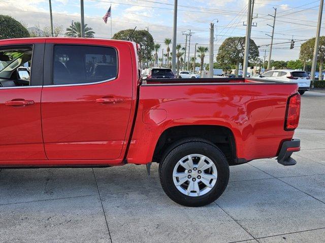
[[[133,34],[131,35],[132,32]],[[115,33],[113,39],[122,39],[124,41],[129,40],[140,45],[140,67],[142,67],[143,62],[148,62],[148,60],[151,59],[151,53],[154,50],[154,42],[152,35],[147,30],[124,29]]]

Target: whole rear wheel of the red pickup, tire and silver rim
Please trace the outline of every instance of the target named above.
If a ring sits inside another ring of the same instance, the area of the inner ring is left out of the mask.
[[[229,165],[214,144],[203,139],[183,140],[163,157],[159,176],[172,200],[200,207],[222,194],[229,180]]]

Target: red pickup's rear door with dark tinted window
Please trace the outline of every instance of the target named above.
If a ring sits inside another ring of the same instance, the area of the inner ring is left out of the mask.
[[[126,44],[84,42],[46,44],[42,125],[49,159],[116,159],[124,144],[131,52]]]

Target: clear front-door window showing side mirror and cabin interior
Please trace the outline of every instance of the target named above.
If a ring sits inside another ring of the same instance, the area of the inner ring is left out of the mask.
[[[0,49],[0,88],[30,86],[32,47]]]

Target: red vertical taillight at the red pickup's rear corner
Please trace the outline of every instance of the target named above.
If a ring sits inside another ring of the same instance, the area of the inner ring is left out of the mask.
[[[300,94],[294,94],[288,98],[285,112],[284,130],[292,131],[298,127],[300,116]]]

